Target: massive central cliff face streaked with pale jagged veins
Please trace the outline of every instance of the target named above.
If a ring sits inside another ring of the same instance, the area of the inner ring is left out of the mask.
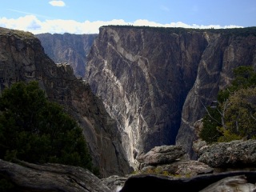
[[[207,44],[195,31],[100,28],[86,80],[117,121],[131,164],[154,146],[174,144]]]

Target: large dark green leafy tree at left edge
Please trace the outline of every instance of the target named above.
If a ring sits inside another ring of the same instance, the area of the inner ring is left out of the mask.
[[[14,83],[0,98],[0,158],[93,170],[82,129],[38,82]]]

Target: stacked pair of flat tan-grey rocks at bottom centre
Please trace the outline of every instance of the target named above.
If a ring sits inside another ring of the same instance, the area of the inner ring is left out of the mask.
[[[138,162],[138,174],[187,178],[214,172],[214,169],[205,163],[190,160],[182,146],[155,146],[148,153],[140,155]]]

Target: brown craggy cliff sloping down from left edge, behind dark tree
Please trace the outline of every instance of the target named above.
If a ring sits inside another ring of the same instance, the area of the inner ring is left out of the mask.
[[[31,80],[37,80],[47,96],[82,126],[103,177],[130,172],[118,127],[89,84],[76,78],[69,65],[55,65],[33,34],[0,28],[1,91],[14,82]]]

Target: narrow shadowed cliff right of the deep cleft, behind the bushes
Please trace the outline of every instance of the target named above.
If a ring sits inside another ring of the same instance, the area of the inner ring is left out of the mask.
[[[216,100],[218,90],[230,84],[233,69],[254,66],[256,69],[256,28],[223,30],[223,34],[207,34],[208,46],[202,54],[194,86],[186,97],[182,109],[182,123],[177,143],[191,150],[196,139],[194,122],[206,113],[204,106]]]

